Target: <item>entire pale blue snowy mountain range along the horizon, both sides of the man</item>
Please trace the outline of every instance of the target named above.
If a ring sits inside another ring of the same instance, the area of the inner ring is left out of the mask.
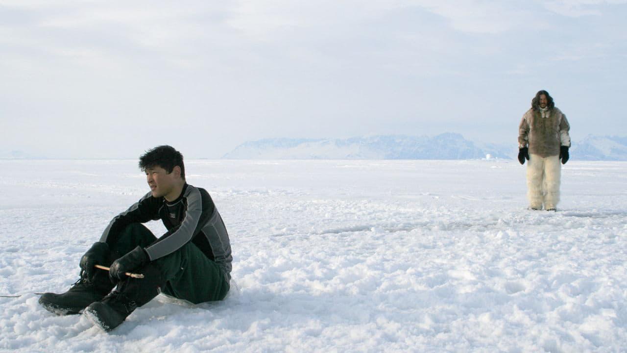
[[[249,141],[226,153],[236,160],[470,160],[512,159],[515,145],[469,141],[460,134],[437,136],[362,136],[347,139],[261,139]],[[572,160],[627,161],[627,138],[586,136],[573,141]]]

